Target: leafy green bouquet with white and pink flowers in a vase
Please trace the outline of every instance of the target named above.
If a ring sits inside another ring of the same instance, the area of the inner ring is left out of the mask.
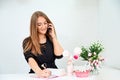
[[[89,48],[82,46],[80,57],[82,57],[83,60],[88,61],[89,65],[91,66],[91,72],[98,73],[99,69],[101,68],[104,58],[100,55],[100,53],[103,51],[103,49],[103,46],[99,42],[94,42]]]

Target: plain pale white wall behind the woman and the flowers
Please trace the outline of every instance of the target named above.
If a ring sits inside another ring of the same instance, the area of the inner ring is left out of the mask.
[[[28,73],[22,41],[29,36],[30,17],[40,10],[55,25],[58,40],[71,53],[76,46],[100,41],[106,65],[120,69],[119,0],[0,0],[0,74]],[[65,67],[65,58],[57,60]]]

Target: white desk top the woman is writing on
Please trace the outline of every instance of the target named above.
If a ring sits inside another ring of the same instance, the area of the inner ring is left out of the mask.
[[[98,76],[77,78],[75,76],[62,76],[57,78],[35,78],[34,74],[0,74],[0,80],[120,80],[120,70],[103,68]]]

